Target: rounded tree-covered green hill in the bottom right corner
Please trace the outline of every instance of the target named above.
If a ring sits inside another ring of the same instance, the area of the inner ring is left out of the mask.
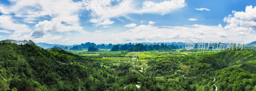
[[[237,67],[216,71],[215,77],[216,85],[220,91],[252,91],[256,85],[255,74]]]

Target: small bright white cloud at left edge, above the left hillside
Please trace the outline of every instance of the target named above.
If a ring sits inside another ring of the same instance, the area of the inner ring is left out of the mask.
[[[7,30],[14,30],[14,33],[11,34],[9,38],[17,38],[21,34],[31,31],[29,27],[25,24],[14,23],[12,16],[9,16],[9,15],[0,16],[0,27]]]

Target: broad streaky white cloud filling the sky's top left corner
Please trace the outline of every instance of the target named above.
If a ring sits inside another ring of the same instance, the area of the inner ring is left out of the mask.
[[[79,24],[79,10],[83,9],[81,2],[72,0],[9,0],[12,4],[0,6],[4,14],[14,13],[15,17],[24,18],[25,22],[35,23],[38,17],[49,15],[52,20],[61,20],[71,25]]]

